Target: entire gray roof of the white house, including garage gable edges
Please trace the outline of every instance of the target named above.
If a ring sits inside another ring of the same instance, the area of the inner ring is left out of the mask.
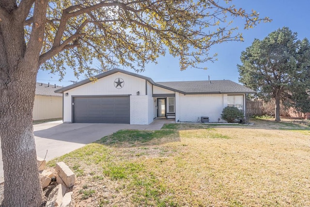
[[[141,79],[148,80],[151,84],[165,88],[171,91],[179,92],[181,94],[249,94],[255,93],[252,89],[249,89],[243,85],[235,83],[231,80],[198,80],[198,81],[173,81],[173,82],[154,82],[151,78],[146,76],[141,76],[136,73],[128,72],[121,69],[112,69],[107,72],[101,73],[95,78],[101,79],[111,74],[121,72],[127,75],[135,76]],[[91,82],[91,80],[86,79],[74,83],[72,85],[63,87],[55,91],[55,93],[63,93],[64,91],[76,88],[78,86],[84,85]]]

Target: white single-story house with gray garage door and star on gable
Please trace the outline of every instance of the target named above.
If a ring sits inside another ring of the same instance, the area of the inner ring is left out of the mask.
[[[64,95],[64,123],[218,122],[226,106],[246,112],[245,96],[254,93],[231,80],[155,82],[121,69],[96,78],[55,91]]]

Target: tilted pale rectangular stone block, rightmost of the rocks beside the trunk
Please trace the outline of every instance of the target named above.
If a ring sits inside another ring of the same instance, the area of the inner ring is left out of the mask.
[[[74,186],[76,176],[64,162],[58,162],[56,164],[55,171],[57,173],[56,177],[57,183],[63,182],[67,188],[71,188],[72,186]],[[59,177],[61,178],[62,181],[59,180]]]

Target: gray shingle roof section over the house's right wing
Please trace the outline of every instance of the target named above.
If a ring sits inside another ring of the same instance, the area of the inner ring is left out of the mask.
[[[198,80],[198,81],[173,81],[173,82],[156,82],[159,85],[169,87],[186,94],[248,94],[255,93],[243,85],[231,80]]]

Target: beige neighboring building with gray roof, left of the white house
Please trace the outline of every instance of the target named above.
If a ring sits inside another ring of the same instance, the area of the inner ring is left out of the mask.
[[[36,83],[33,120],[62,118],[62,94],[54,93],[61,86]]]

